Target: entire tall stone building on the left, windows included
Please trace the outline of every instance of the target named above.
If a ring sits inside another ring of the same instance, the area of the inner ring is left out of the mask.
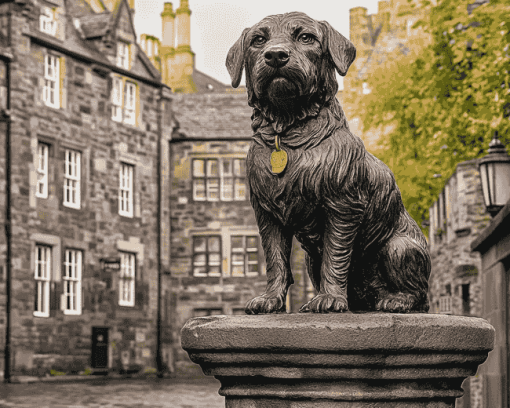
[[[0,364],[9,377],[172,364],[160,296],[170,90],[136,43],[132,6],[0,5]]]

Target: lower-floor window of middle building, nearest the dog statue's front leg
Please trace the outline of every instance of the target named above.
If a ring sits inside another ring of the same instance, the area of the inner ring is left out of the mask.
[[[233,235],[231,243],[232,276],[258,276],[259,237]]]

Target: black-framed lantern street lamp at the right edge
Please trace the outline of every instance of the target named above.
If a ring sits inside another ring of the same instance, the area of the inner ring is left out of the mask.
[[[489,154],[480,161],[480,178],[485,207],[494,217],[510,199],[510,157],[497,130],[489,144]]]

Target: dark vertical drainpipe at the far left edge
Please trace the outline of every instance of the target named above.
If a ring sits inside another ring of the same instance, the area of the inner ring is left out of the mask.
[[[11,44],[11,11],[8,12],[8,44]],[[5,239],[7,241],[5,265],[5,350],[4,381],[11,382],[11,277],[12,277],[12,214],[11,214],[11,65],[12,54],[4,52],[6,101],[1,119],[5,122]]]

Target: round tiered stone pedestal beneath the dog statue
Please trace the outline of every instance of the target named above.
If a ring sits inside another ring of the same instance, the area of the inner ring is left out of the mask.
[[[435,314],[211,316],[182,329],[227,408],[454,407],[493,343],[485,320]]]

